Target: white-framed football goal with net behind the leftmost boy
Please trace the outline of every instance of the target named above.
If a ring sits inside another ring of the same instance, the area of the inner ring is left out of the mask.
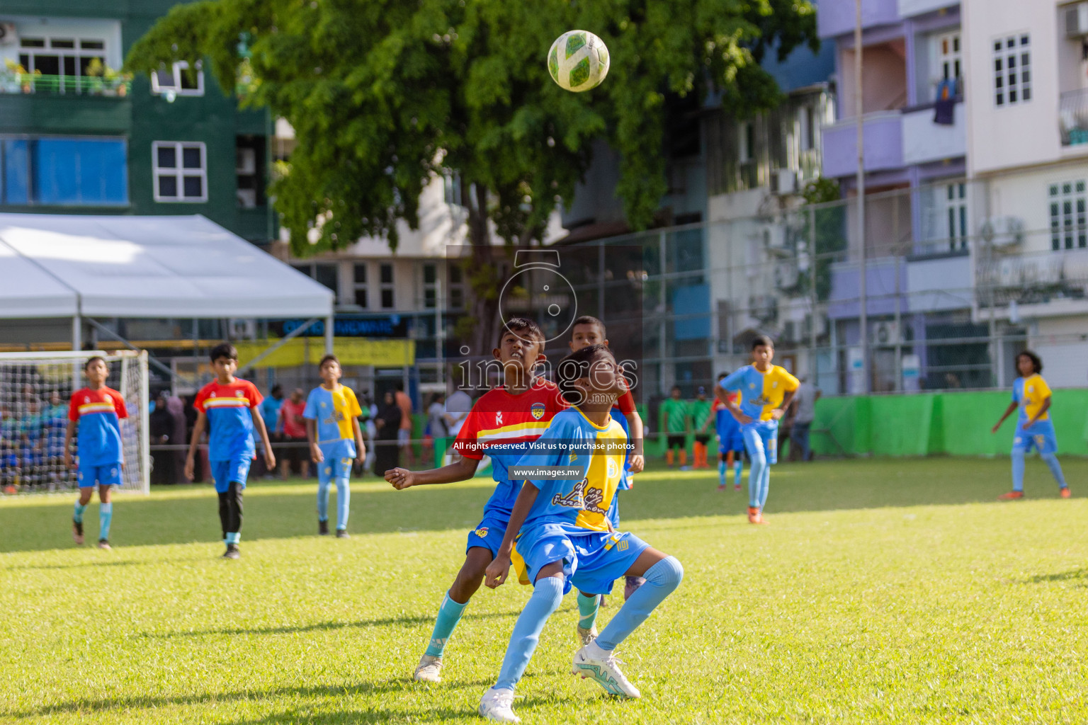
[[[0,490],[7,493],[76,488],[76,472],[64,465],[64,429],[72,392],[86,386],[87,360],[110,367],[107,387],[125,399],[121,421],[125,465],[123,490],[149,492],[147,352],[0,353]],[[76,460],[75,436],[72,459]]]

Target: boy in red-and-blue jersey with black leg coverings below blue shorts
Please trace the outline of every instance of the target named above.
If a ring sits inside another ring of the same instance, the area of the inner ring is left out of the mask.
[[[208,435],[208,461],[219,495],[219,520],[223,528],[226,551],[223,559],[239,559],[238,541],[242,540],[242,492],[254,461],[254,432],[264,446],[264,460],[269,468],[275,467],[275,454],[269,442],[269,433],[261,417],[261,393],[249,380],[234,377],[238,368],[238,351],[223,342],[211,350],[211,368],[215,379],[200,388],[193,407],[197,422],[193,426],[189,454],[185,459],[185,477],[193,480],[194,460],[205,427],[211,423]]]

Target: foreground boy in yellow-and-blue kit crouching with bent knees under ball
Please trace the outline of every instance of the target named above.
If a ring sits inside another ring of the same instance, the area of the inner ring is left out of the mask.
[[[605,593],[620,576],[646,582],[623,603],[601,635],[574,654],[572,671],[622,698],[640,692],[620,672],[616,647],[665,600],[683,578],[675,558],[627,532],[615,532],[608,509],[623,476],[627,434],[610,415],[622,392],[619,366],[603,345],[567,355],[556,367],[559,390],[572,408],[557,413],[532,450],[511,467],[527,478],[503,543],[487,566],[486,584],[506,580],[518,542],[533,593],[518,616],[498,680],[480,701],[489,720],[517,723],[514,688],[524,674],[544,624],[571,586]]]

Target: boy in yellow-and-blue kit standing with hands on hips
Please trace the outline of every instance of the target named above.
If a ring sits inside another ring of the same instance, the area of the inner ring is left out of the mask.
[[[784,367],[772,365],[775,343],[765,335],[752,340],[752,364],[744,365],[721,380],[720,388],[740,393],[740,402],[727,399],[726,405],[741,424],[747,451],[749,522],[766,524],[763,508],[770,491],[770,466],[778,463],[778,421],[793,401],[801,383]]]

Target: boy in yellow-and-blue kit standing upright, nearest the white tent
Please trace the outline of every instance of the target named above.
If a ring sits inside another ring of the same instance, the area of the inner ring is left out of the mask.
[[[306,399],[302,417],[310,458],[318,466],[318,534],[329,535],[329,485],[336,482],[336,538],[346,539],[347,514],[351,503],[353,459],[362,464],[367,447],[362,445],[359,416],[362,409],[351,388],[341,385],[343,371],[336,355],[325,355],[319,365],[321,385]]]

